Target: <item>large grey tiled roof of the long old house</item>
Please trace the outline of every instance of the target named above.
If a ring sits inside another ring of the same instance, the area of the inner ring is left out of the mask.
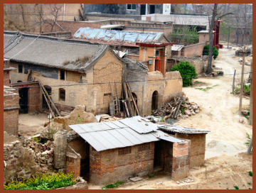
[[[4,57],[64,70],[84,71],[107,51],[108,45],[4,31]],[[79,60],[80,59],[80,60]],[[87,59],[87,60],[83,60]]]

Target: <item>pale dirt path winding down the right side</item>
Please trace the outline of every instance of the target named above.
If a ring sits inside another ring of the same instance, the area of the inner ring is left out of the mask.
[[[235,50],[220,50],[214,64],[222,67],[223,77],[196,79],[203,84],[183,88],[190,101],[201,106],[201,112],[195,116],[179,120],[176,124],[192,128],[210,130],[206,136],[206,167],[190,170],[194,182],[177,184],[169,176],[157,175],[144,177],[140,182],[126,182],[119,189],[240,189],[252,188],[252,155],[246,155],[245,133],[252,135],[252,126],[239,123],[242,116],[238,115],[239,96],[233,96],[233,72],[236,69],[236,82],[240,80],[240,57],[233,56]],[[246,57],[250,63],[251,57]],[[245,73],[250,72],[250,66],[245,65]],[[248,75],[245,75],[247,79]],[[200,85],[200,86],[199,86]],[[211,87],[204,92],[198,87]],[[247,109],[250,100],[243,99],[242,107]],[[90,189],[100,189],[100,186],[89,186]]]

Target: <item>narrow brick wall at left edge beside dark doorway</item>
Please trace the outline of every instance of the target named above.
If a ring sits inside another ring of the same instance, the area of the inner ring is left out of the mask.
[[[5,87],[5,89],[7,88]],[[19,96],[15,92],[16,91],[11,92],[4,90],[4,131],[11,135],[18,136]]]

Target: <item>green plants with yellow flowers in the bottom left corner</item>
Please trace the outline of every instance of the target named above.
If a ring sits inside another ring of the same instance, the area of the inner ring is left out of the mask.
[[[28,180],[16,180],[4,185],[4,189],[57,189],[75,184],[73,174],[62,171],[52,174],[34,175]]]

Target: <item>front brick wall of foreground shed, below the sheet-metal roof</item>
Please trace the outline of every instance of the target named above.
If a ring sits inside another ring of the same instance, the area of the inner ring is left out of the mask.
[[[150,143],[149,150],[139,151],[138,148],[139,145],[134,145],[131,153],[119,155],[118,148],[97,152],[90,146],[90,182],[108,184],[152,172],[154,142]]]

